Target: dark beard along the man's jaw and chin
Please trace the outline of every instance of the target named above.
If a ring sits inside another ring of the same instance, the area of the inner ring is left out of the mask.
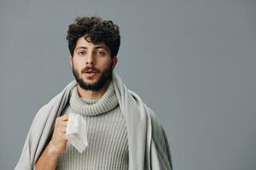
[[[97,80],[97,82],[93,84],[89,84],[84,82],[82,78],[79,77],[79,71],[77,71],[74,67],[72,68],[73,76],[78,82],[79,86],[85,90],[98,91],[103,88],[103,86],[108,82],[108,80],[112,80],[113,73],[113,65],[110,65],[107,70],[102,71],[101,77]],[[97,72],[99,74],[99,72]]]

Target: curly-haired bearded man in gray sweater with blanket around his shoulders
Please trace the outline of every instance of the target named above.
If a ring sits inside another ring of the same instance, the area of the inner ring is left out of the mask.
[[[78,17],[68,28],[67,41],[75,83],[38,111],[15,169],[172,169],[166,134],[154,112],[113,71],[119,26],[99,17]],[[67,139],[72,114],[86,122],[79,124],[88,138],[82,151]]]

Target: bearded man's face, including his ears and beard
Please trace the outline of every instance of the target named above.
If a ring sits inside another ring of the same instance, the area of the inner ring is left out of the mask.
[[[116,63],[117,57],[111,58],[104,42],[93,44],[84,37],[79,37],[73,58],[70,56],[73,75],[79,86],[92,91],[100,90],[112,78]]]

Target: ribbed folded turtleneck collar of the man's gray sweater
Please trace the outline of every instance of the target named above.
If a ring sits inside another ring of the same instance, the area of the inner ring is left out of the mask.
[[[118,105],[118,99],[110,81],[108,89],[100,99],[80,98],[77,85],[73,88],[69,104],[73,111],[84,116],[97,116],[112,110]]]

